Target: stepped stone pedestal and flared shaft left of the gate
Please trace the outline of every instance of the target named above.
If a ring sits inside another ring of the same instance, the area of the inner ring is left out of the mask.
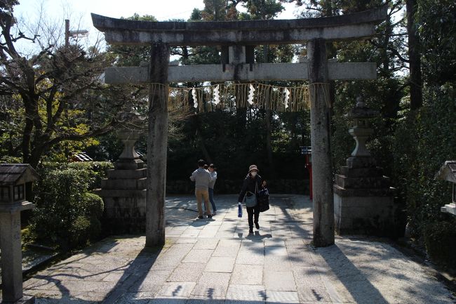
[[[147,168],[135,152],[137,131],[118,133],[124,149],[114,170],[95,190],[105,202],[103,229],[112,234],[143,233],[146,227]]]

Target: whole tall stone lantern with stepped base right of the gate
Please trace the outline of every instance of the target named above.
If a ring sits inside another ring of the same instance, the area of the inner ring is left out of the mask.
[[[335,176],[334,217],[338,234],[396,234],[395,190],[389,187],[389,178],[383,176],[382,168],[366,147],[366,140],[373,134],[369,120],[377,115],[359,97],[346,115],[354,121],[349,133],[356,147],[347,166],[342,166],[342,174]]]

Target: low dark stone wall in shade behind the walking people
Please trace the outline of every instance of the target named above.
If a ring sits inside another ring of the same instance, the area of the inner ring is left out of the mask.
[[[215,194],[234,194],[241,191],[242,180],[217,179]],[[267,180],[270,193],[309,194],[309,180]],[[166,181],[167,194],[193,194],[194,183],[190,180]]]

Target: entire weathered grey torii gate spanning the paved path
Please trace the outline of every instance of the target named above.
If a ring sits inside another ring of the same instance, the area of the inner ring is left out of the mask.
[[[165,242],[164,203],[168,141],[168,83],[308,79],[314,189],[314,245],[334,244],[333,174],[330,156],[328,82],[375,79],[375,63],[328,62],[326,41],[363,39],[387,16],[387,7],[350,15],[297,20],[148,22],[92,14],[109,44],[150,45],[147,67],[111,67],[108,84],[149,84],[146,244]],[[303,44],[308,62],[255,64],[255,45]],[[221,46],[220,65],[169,66],[170,46]]]

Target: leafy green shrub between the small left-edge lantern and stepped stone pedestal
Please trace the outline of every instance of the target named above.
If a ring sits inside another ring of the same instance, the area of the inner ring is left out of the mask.
[[[67,250],[97,239],[103,202],[88,193],[97,178],[97,173],[89,170],[92,165],[62,166],[53,165],[49,171],[41,168],[30,230],[36,241]]]

